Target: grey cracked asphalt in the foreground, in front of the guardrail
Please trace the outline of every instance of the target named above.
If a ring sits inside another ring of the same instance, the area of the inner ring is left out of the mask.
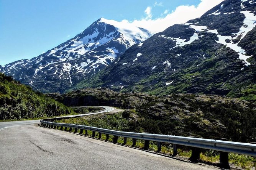
[[[60,130],[20,125],[0,130],[0,169],[217,170]]]

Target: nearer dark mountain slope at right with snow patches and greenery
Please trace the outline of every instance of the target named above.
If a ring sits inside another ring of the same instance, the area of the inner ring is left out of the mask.
[[[225,0],[131,48],[72,89],[156,95],[205,93],[256,100],[256,0]]]

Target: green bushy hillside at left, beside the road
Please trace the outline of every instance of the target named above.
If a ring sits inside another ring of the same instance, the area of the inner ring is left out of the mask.
[[[0,120],[70,114],[69,108],[0,73]]]

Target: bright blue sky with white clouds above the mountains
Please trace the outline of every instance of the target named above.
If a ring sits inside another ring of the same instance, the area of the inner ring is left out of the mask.
[[[190,11],[186,8],[191,9],[193,14],[196,10],[200,11],[198,16],[195,15],[199,17],[206,10],[203,6],[208,4],[210,9],[221,1],[0,0],[0,64],[3,66],[19,59],[36,57],[79,34],[102,17],[128,20],[159,32],[176,22],[183,23],[190,19],[187,18]],[[184,14],[181,15],[178,11],[182,10]],[[169,20],[164,20],[167,18]],[[164,24],[153,28],[159,25],[154,24],[155,21],[160,20]]]

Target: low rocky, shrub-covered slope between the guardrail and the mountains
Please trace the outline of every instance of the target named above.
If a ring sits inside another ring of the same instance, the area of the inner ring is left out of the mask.
[[[109,120],[119,130],[256,142],[256,104],[237,98],[202,94],[159,97],[118,93],[107,88],[48,96],[73,106],[102,105],[127,109],[123,112],[122,119],[125,120]],[[118,124],[118,121],[125,124]],[[100,119],[95,123],[97,127],[108,128],[109,122]]]

